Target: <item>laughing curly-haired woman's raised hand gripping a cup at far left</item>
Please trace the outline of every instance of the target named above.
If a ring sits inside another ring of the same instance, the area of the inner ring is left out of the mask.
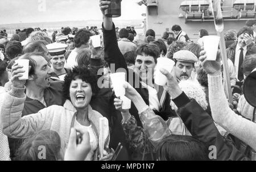
[[[15,64],[11,67],[11,83],[13,83],[14,87],[23,88],[26,81],[20,81],[19,77],[23,76],[25,70],[22,70],[23,66]]]

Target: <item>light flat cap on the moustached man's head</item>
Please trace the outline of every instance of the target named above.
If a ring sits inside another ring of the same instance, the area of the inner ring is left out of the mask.
[[[177,61],[184,61],[184,62],[192,62],[195,63],[198,61],[195,54],[187,50],[181,50],[174,54],[174,59]]]

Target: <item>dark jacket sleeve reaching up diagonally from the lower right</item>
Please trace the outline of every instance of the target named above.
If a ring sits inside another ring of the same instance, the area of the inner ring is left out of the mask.
[[[213,119],[196,100],[189,100],[183,93],[174,99],[174,103],[179,108],[181,119],[191,135],[207,146],[216,146],[218,161],[249,161],[249,158],[238,151],[233,144],[224,141]]]

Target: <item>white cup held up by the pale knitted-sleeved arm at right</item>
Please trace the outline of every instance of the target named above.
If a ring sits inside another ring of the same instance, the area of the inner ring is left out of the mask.
[[[218,45],[220,44],[220,36],[204,36],[203,42],[207,60],[216,61]]]

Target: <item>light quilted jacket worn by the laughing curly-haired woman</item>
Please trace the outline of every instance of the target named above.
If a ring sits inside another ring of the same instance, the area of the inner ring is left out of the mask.
[[[22,110],[26,100],[26,94],[23,89],[12,86],[11,91],[3,96],[4,102],[1,110],[1,125],[5,135],[14,139],[24,139],[38,131],[50,129],[59,133],[65,145],[68,144],[69,134],[71,131],[72,119],[76,115],[76,108],[67,100],[64,106],[49,106],[40,110],[36,114],[30,114],[22,117]],[[103,116],[92,110],[89,106],[89,120],[95,126],[96,133],[100,131],[99,119]],[[109,136],[104,138],[105,150],[108,152]],[[64,145],[61,145],[62,149]],[[65,148],[64,148],[65,150]],[[94,154],[94,160],[97,153]]]

